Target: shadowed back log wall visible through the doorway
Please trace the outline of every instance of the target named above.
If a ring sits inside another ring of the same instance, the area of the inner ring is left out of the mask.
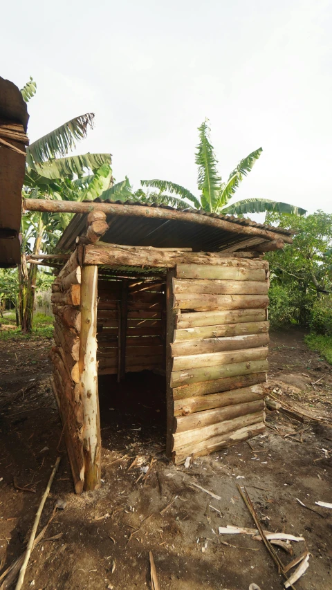
[[[98,282],[98,374],[165,370],[165,284]]]

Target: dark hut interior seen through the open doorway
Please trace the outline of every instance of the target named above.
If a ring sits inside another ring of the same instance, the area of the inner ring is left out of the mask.
[[[100,421],[113,450],[165,442],[165,299],[165,277],[98,278]]]

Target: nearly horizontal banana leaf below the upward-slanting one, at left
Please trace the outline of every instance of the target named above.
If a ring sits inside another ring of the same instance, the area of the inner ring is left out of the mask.
[[[102,164],[111,164],[111,154],[83,154],[56,158],[42,164],[28,166],[27,172],[35,170],[40,176],[55,180],[56,178],[73,178],[82,176],[87,170],[96,170]]]

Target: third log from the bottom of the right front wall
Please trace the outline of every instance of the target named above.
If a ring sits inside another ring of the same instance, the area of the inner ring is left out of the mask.
[[[255,414],[264,410],[264,399],[243,402],[225,407],[216,407],[206,409],[201,412],[195,412],[189,416],[176,416],[174,418],[174,430],[176,433],[203,428],[211,424],[221,423],[227,420],[233,420],[239,416]]]

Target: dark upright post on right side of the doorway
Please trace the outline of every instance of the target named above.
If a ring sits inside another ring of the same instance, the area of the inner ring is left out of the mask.
[[[171,387],[172,374],[172,350],[171,342],[174,338],[176,326],[176,309],[173,308],[173,278],[176,276],[176,269],[167,270],[166,281],[166,454],[169,459],[172,457],[172,434],[174,430],[174,400]]]

